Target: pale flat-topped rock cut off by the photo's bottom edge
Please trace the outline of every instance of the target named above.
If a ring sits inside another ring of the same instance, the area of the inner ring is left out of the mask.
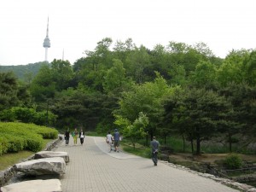
[[[32,180],[13,183],[1,188],[3,192],[61,192],[59,179]]]

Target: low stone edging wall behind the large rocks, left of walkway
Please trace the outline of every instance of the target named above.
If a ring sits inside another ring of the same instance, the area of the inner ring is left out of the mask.
[[[50,151],[52,148],[55,148],[55,146],[62,141],[63,137],[59,135],[58,139],[55,139],[54,141],[50,142],[47,144],[46,148],[44,148],[44,151]],[[25,162],[27,160],[33,160],[34,159],[34,154],[32,154],[30,157],[20,160],[20,162]],[[15,177],[15,168],[14,166],[9,166],[6,170],[3,170],[0,172],[0,187],[2,187],[4,184],[8,183],[9,180],[12,177]],[[0,189],[1,191],[1,189]]]

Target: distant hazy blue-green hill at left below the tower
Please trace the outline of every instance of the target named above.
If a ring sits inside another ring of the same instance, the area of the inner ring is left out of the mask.
[[[18,65],[18,66],[0,66],[0,73],[3,72],[13,72],[17,79],[25,81],[28,77],[33,78],[37,75],[39,69],[43,65],[49,65],[49,62],[42,61],[36,63],[30,63],[27,65]]]

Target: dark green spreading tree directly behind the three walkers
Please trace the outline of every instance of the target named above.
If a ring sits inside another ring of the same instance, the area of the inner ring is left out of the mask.
[[[81,126],[86,131],[94,131],[100,125],[113,126],[112,111],[118,108],[117,101],[112,95],[88,90],[79,84],[77,89],[70,88],[58,93],[54,105],[50,105],[49,109],[58,116],[57,127]],[[103,132],[102,129],[99,131]]]

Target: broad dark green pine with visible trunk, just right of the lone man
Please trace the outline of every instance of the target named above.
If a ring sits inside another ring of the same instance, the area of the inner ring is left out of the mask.
[[[224,96],[218,96],[212,90],[195,88],[185,90],[182,100],[171,106],[173,107],[168,109],[172,109],[172,122],[179,124],[177,128],[182,128],[181,133],[186,134],[191,144],[195,139],[196,154],[201,154],[201,141],[216,133],[222,115],[230,111],[230,105]],[[184,125],[187,127],[184,128]],[[191,147],[193,148],[192,145]]]

